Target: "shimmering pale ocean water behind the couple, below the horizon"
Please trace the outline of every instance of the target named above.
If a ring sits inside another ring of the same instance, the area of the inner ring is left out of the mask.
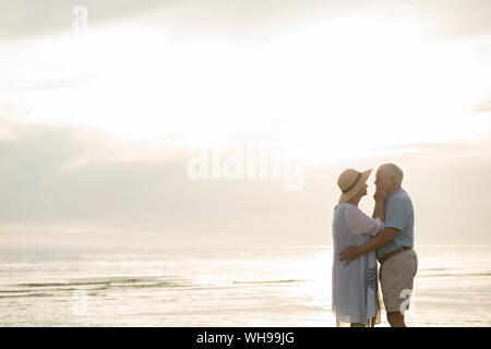
[[[416,251],[407,325],[491,326],[491,245]],[[0,326],[335,326],[332,258],[330,245],[1,249]]]

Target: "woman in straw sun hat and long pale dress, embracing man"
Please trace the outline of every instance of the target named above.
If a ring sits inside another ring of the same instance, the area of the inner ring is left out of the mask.
[[[342,195],[333,216],[333,314],[338,326],[340,323],[349,323],[351,327],[380,323],[375,252],[348,265],[338,261],[344,248],[361,245],[384,228],[379,218],[370,218],[358,208],[361,197],[367,195],[371,172],[371,169],[364,172],[347,169],[337,180]]]

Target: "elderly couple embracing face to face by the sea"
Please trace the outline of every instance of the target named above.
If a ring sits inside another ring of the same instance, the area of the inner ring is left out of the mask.
[[[358,203],[367,195],[371,171],[347,169],[337,181],[342,195],[333,216],[333,314],[338,326],[380,323],[379,260],[387,321],[392,327],[405,327],[404,311],[418,269],[412,203],[400,188],[400,168],[385,164],[375,174],[372,218],[367,216]]]

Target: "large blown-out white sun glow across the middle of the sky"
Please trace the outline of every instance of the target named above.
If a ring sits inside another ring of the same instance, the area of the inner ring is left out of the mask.
[[[190,143],[261,133],[328,160],[471,134],[466,117],[481,86],[463,51],[372,14],[258,47],[182,44],[118,24],[31,46],[37,64],[80,81],[9,97],[35,120],[136,139],[182,132]]]

